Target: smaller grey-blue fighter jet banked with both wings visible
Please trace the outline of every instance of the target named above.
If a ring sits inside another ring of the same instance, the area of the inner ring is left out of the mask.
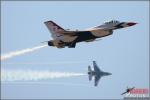
[[[91,81],[92,76],[94,76],[95,78],[94,86],[98,85],[98,82],[102,76],[111,75],[111,73],[103,72],[102,70],[100,70],[95,61],[93,61],[93,67],[94,67],[94,70],[92,70],[91,67],[88,66],[88,75],[89,75],[89,81]]]

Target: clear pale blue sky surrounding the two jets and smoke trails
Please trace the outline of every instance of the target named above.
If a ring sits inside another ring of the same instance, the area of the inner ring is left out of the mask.
[[[1,69],[86,73],[87,66],[96,60],[102,70],[112,73],[111,76],[102,78],[98,87],[88,82],[87,76],[51,79],[34,84],[3,83],[2,98],[120,99],[123,98],[120,94],[127,86],[149,86],[147,1],[2,1],[2,54],[34,47],[52,39],[43,23],[48,20],[55,21],[65,29],[83,30],[113,19],[138,24],[116,30],[113,35],[97,42],[78,43],[75,49],[46,47],[1,62]],[[69,85],[72,83],[80,85]]]

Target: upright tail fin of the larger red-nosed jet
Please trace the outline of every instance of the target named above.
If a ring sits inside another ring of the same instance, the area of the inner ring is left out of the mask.
[[[44,24],[47,26],[48,30],[52,33],[53,38],[62,36],[60,32],[65,31],[62,27],[58,26],[53,21],[46,21]]]

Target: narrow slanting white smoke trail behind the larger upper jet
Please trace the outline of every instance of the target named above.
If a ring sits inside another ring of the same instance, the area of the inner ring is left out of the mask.
[[[33,47],[33,48],[27,48],[27,49],[24,49],[24,50],[10,52],[10,53],[2,55],[1,60],[6,60],[6,59],[9,59],[9,58],[12,58],[12,57],[15,57],[15,56],[19,56],[19,55],[22,55],[22,54],[25,54],[25,53],[28,53],[28,52],[33,52],[35,50],[38,50],[38,49],[41,49],[41,48],[44,48],[44,47],[47,47],[47,46],[48,45],[42,45],[42,46],[36,46],[36,47]]]

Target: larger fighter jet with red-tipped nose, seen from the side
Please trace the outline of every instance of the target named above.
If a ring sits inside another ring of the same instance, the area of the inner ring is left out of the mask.
[[[76,43],[79,42],[92,42],[97,38],[102,38],[108,35],[111,35],[114,30],[130,27],[137,23],[135,22],[119,22],[116,20],[112,20],[109,22],[105,22],[104,24],[89,28],[83,31],[80,30],[65,30],[62,27],[58,26],[53,21],[44,22],[50,31],[53,40],[46,41],[49,46],[55,46],[57,48],[75,48]]]

